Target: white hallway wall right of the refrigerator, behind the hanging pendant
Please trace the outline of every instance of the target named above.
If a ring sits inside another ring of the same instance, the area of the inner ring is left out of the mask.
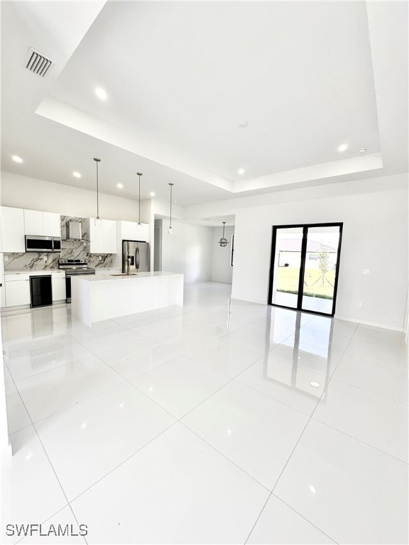
[[[173,234],[168,233],[168,221],[163,220],[162,270],[182,272],[185,283],[212,279],[213,229],[172,220]]]

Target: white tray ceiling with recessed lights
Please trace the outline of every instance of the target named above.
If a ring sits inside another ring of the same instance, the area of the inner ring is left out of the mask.
[[[361,1],[2,3],[2,168],[94,188],[99,157],[102,191],[135,198],[141,171],[143,198],[167,199],[173,182],[184,206],[401,172],[403,150],[393,160],[384,151],[392,148],[379,128],[388,97],[377,92],[373,52],[388,43],[403,73],[405,52],[371,9]],[[401,13],[388,13],[396,33]],[[56,60],[44,79],[24,68],[30,46]],[[349,147],[339,153],[342,143]]]

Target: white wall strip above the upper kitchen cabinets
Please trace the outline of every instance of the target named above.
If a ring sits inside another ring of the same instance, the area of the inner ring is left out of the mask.
[[[28,176],[1,172],[1,206],[94,217],[97,192]],[[138,221],[138,201],[99,194],[99,214],[105,219]],[[151,200],[141,201],[141,221],[151,220]]]

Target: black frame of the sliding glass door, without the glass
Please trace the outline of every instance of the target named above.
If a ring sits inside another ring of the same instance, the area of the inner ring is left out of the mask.
[[[316,310],[303,310],[302,297],[304,291],[304,275],[305,275],[305,258],[307,255],[307,233],[311,227],[339,227],[339,241],[337,249],[337,264],[335,265],[335,282],[334,282],[334,297],[332,299],[332,311],[331,314],[326,312],[317,312]],[[338,292],[338,275],[339,275],[339,260],[341,258],[341,244],[342,244],[342,229],[344,224],[342,221],[337,221],[333,224],[296,224],[296,225],[273,225],[273,236],[271,239],[271,258],[270,258],[270,278],[268,282],[268,301],[272,307],[280,307],[282,309],[290,310],[302,310],[302,312],[309,312],[310,314],[320,314],[321,316],[334,316],[335,305],[337,304],[337,292]],[[277,243],[277,230],[278,229],[302,229],[302,242],[301,242],[301,262],[300,262],[300,277],[298,279],[298,296],[297,307],[285,307],[283,304],[273,303],[273,282],[274,282],[274,258],[276,255],[276,243]]]

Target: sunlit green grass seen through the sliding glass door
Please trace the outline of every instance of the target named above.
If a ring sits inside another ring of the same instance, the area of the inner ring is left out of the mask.
[[[298,280],[300,270],[295,267],[278,267],[277,291],[285,293],[298,293]],[[332,299],[334,296],[335,271],[329,270],[322,286],[320,269],[305,269],[304,295]]]

